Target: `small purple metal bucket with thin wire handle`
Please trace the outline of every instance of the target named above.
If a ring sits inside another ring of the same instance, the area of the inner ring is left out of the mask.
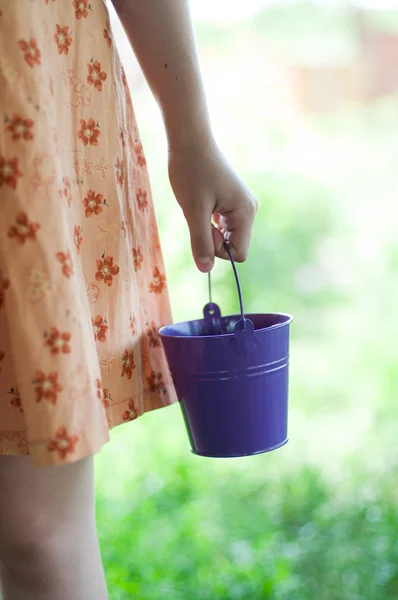
[[[210,300],[203,319],[159,331],[192,452],[214,458],[269,452],[288,441],[292,317],[245,317],[238,274],[227,244],[226,248],[241,314],[222,317]]]

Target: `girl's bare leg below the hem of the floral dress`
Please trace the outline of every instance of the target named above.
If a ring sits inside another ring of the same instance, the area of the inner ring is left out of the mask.
[[[93,458],[33,467],[0,456],[4,600],[107,600],[95,523]]]

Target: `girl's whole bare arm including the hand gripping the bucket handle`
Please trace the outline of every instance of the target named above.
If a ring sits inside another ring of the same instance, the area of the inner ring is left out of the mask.
[[[215,256],[228,258],[224,239],[235,260],[246,260],[257,202],[214,142],[188,0],[113,3],[163,114],[170,182],[197,267],[207,272]]]

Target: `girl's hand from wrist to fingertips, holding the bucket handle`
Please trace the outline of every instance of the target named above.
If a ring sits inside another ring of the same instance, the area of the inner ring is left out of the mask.
[[[234,259],[244,262],[258,205],[216,144],[196,141],[172,149],[169,175],[188,223],[198,269],[206,273],[215,256],[228,258],[224,240],[230,242]]]

